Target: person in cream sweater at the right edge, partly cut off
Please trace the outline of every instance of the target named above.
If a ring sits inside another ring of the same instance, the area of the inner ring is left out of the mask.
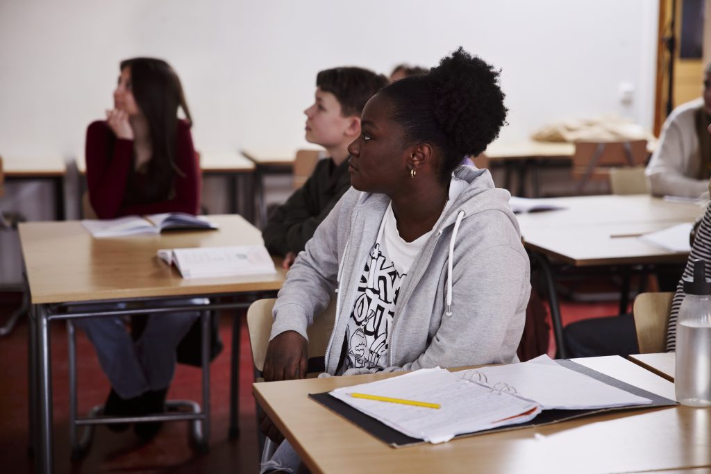
[[[659,146],[646,169],[653,195],[698,198],[711,178],[711,63],[703,97],[682,104],[664,122]]]

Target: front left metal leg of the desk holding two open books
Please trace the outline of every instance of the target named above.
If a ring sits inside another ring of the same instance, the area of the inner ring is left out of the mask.
[[[54,469],[52,451],[52,365],[50,362],[50,334],[47,308],[37,306],[37,366],[38,366],[38,451],[36,468],[41,473]]]

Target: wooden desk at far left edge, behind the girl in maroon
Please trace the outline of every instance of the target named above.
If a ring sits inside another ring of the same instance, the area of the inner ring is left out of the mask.
[[[67,166],[61,156],[3,156],[6,181],[48,181],[54,190],[55,219],[64,220],[64,178]]]

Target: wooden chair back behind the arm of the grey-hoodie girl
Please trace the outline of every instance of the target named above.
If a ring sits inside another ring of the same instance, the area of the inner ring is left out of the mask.
[[[267,355],[269,335],[272,333],[272,323],[274,323],[272,318],[274,301],[277,301],[276,298],[257,300],[247,310],[247,330],[250,333],[252,359],[260,373],[264,370],[264,357]],[[335,318],[336,298],[332,298],[324,312],[316,316],[314,323],[306,330],[306,334],[309,335],[309,359],[323,357],[326,354]]]

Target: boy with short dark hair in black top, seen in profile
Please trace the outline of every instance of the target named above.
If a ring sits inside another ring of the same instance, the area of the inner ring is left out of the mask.
[[[284,268],[314,235],[316,227],[351,187],[348,144],[360,134],[360,112],[387,84],[383,75],[361,68],[334,68],[316,75],[314,104],[306,114],[306,141],[323,146],[330,158],[269,218],[262,236],[269,252],[284,257]]]

